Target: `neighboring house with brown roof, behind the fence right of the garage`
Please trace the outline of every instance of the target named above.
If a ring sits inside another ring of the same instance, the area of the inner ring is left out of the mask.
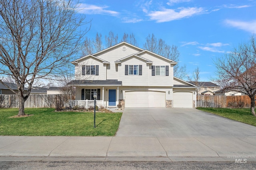
[[[201,95],[214,95],[214,92],[220,90],[220,86],[212,82],[189,82],[191,84],[197,84],[198,94]]]

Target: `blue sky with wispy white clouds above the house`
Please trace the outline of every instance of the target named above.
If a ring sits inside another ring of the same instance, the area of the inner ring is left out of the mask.
[[[138,47],[154,33],[176,45],[180,62],[192,74],[198,66],[200,81],[210,81],[213,59],[238,47],[256,33],[255,0],[81,0],[80,13],[92,20],[87,37],[109,31],[122,37],[134,33]],[[88,25],[87,25],[88,26]],[[186,79],[184,79],[186,80]]]

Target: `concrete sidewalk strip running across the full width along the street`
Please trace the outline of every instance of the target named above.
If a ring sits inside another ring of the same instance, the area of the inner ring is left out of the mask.
[[[256,162],[255,138],[0,136],[0,161]]]

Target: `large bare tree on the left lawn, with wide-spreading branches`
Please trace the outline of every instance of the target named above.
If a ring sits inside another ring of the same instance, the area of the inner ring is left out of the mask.
[[[12,76],[17,84],[18,116],[25,115],[24,103],[34,82],[62,72],[82,45],[86,30],[79,28],[85,24],[84,16],[77,14],[73,3],[0,0],[0,74]]]

